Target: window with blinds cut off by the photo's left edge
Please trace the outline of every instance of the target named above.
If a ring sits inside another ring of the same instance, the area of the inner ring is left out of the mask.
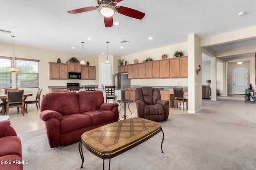
[[[0,56],[0,83],[3,88],[12,88],[12,72],[6,67],[11,65],[12,57]]]

